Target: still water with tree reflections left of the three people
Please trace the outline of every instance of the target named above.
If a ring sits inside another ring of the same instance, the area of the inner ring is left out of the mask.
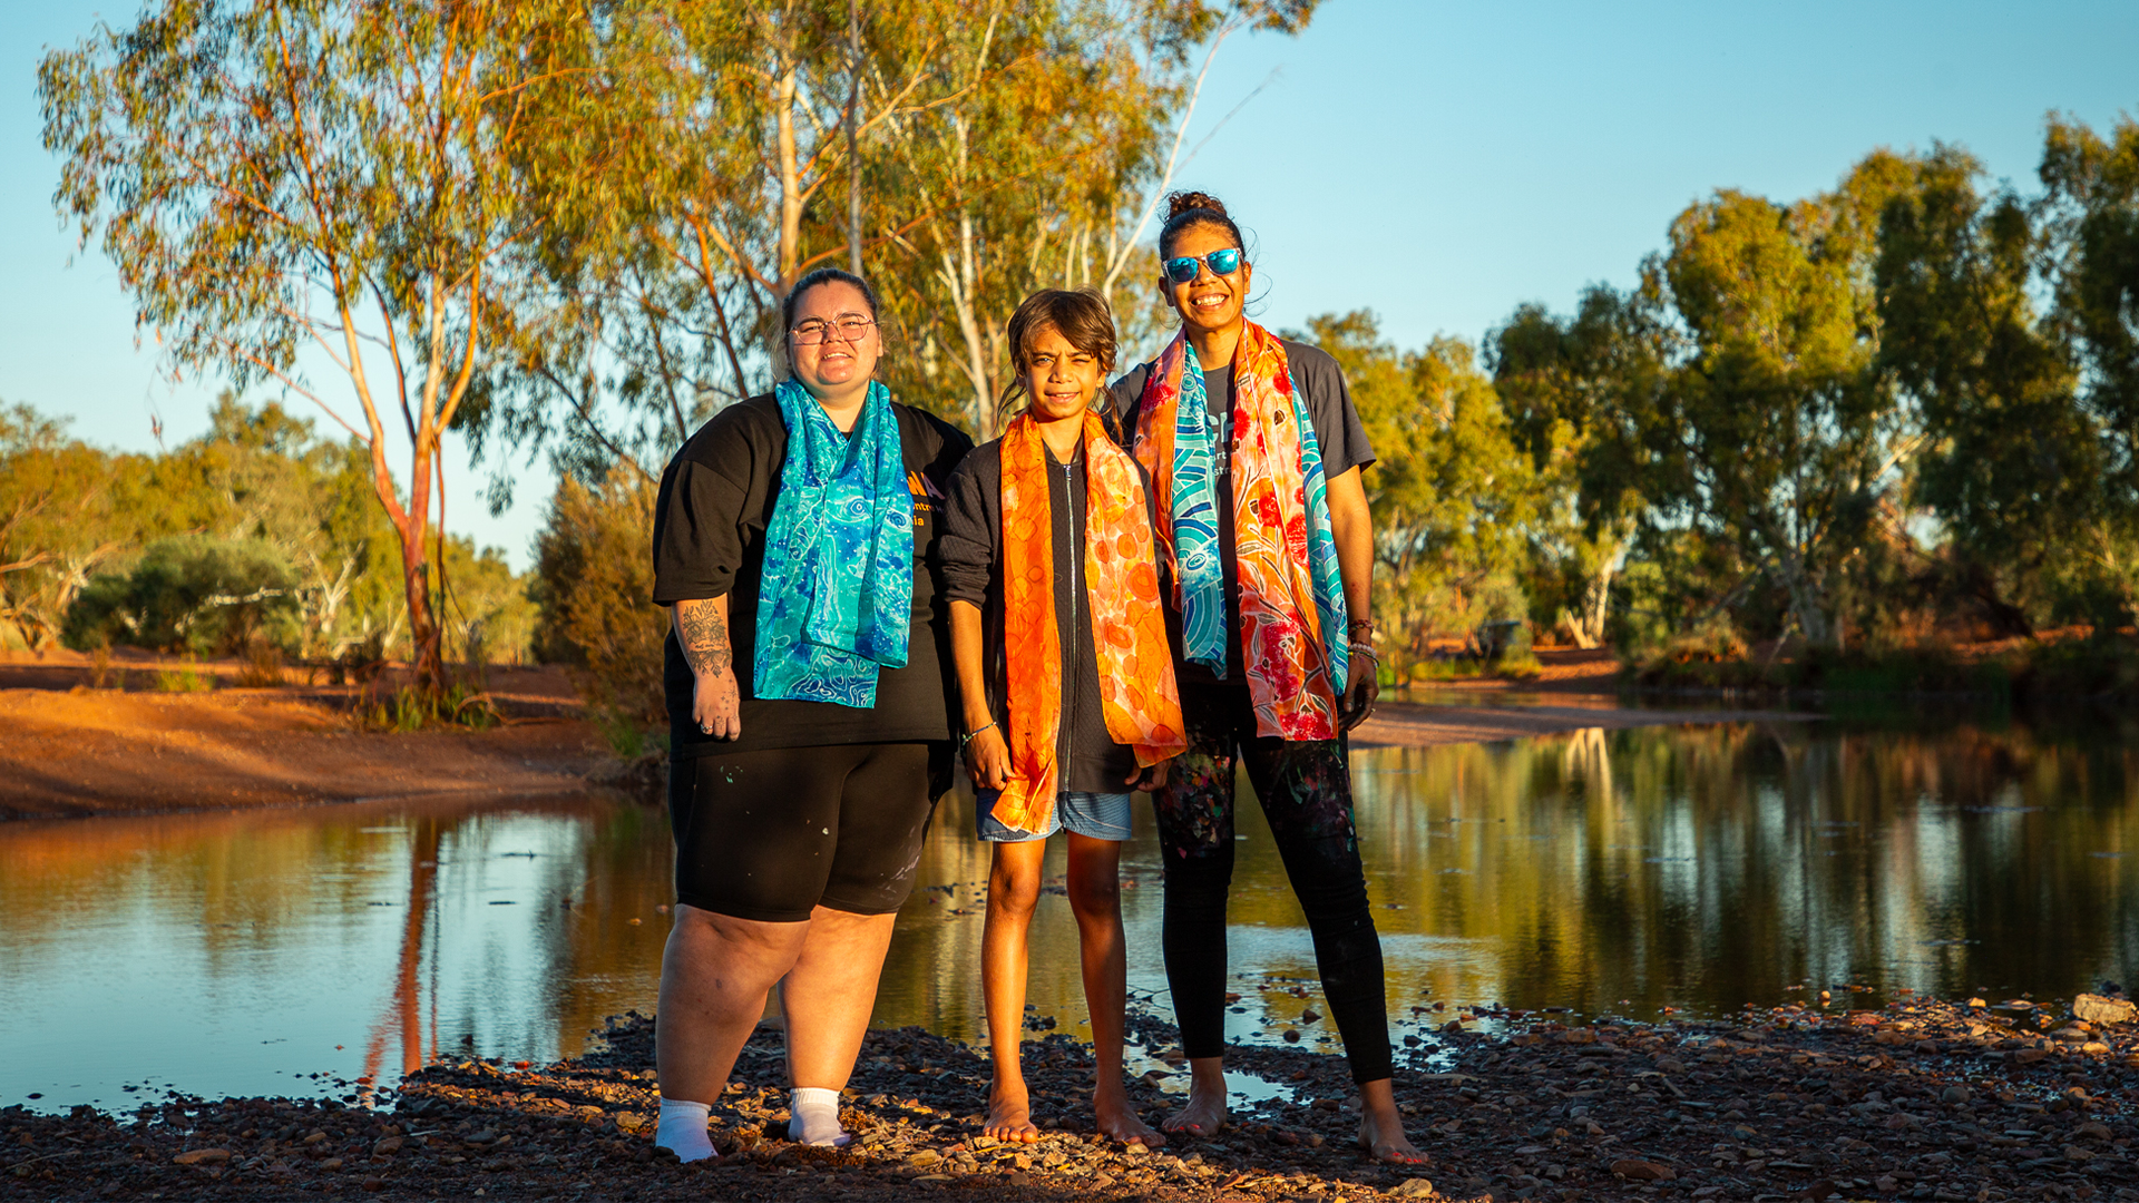
[[[599,801],[4,824],[0,1102],[575,1049],[659,961],[665,839]]]

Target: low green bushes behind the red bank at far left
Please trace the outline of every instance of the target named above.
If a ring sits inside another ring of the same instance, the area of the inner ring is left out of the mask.
[[[158,456],[64,439],[0,411],[0,649],[107,642],[201,655],[257,642],[308,661],[409,655],[394,527],[370,456],[280,405],[225,396],[199,439]],[[432,531],[434,559],[436,531]],[[535,604],[503,552],[443,546],[445,649],[530,655]],[[259,597],[252,597],[259,593]]]

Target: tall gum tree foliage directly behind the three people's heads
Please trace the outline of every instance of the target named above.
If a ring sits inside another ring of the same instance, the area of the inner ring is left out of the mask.
[[[1029,291],[1099,289],[1125,353],[1170,328],[1144,235],[1191,150],[1183,109],[1230,34],[1296,34],[1313,11],[723,0],[601,24],[567,49],[588,88],[528,109],[515,163],[545,295],[464,426],[548,443],[584,479],[618,458],[650,471],[770,385],[781,298],[836,265],[881,293],[894,394],[988,437]]]

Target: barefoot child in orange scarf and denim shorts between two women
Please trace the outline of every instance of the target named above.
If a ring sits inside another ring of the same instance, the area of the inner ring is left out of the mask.
[[[980,837],[995,843],[982,935],[995,1053],[986,1132],[1040,1139],[1018,1064],[1025,933],[1046,839],[1067,828],[1099,1062],[1093,1113],[1108,1137],[1157,1147],[1166,1139],[1136,1117],[1121,1081],[1117,880],[1129,792],[1164,786],[1168,758],[1185,747],[1151,509],[1136,462],[1093,407],[1114,366],[1106,302],[1033,293],[1010,319],[1010,347],[1027,409],[952,475],[941,542],[965,760]]]

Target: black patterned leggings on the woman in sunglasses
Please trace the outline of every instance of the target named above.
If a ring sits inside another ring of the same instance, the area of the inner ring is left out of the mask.
[[[1382,938],[1367,905],[1367,871],[1352,826],[1352,771],[1343,741],[1256,734],[1256,711],[1238,685],[1181,685],[1189,747],[1155,796],[1166,854],[1166,980],[1174,991],[1181,1051],[1226,1051],[1226,895],[1232,888],[1234,779],[1247,779],[1271,820],[1292,893],[1307,912],[1330,1019],[1343,1036],[1352,1081],[1392,1072]]]

